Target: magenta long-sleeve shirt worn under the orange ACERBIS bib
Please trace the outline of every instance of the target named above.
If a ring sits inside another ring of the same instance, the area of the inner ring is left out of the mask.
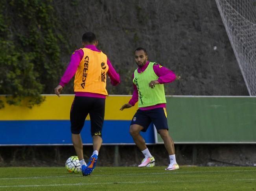
[[[91,49],[92,51],[101,52],[97,49],[94,45],[86,45],[85,48]],[[81,60],[83,59],[83,50],[79,49],[76,50],[70,59],[70,63],[68,67],[66,68],[66,71],[64,72],[64,75],[61,77],[61,81],[59,82],[59,85],[64,87],[68,82],[71,80],[71,78],[76,74],[77,67],[79,66]],[[107,65],[109,66],[109,70],[107,71],[107,74],[110,77],[111,84],[117,85],[120,83],[120,76],[115,71],[114,67],[112,66],[111,62],[107,58]],[[86,97],[95,97],[95,98],[106,98],[105,95],[98,94],[98,93],[90,93],[90,92],[75,92],[76,96],[86,96]]]

